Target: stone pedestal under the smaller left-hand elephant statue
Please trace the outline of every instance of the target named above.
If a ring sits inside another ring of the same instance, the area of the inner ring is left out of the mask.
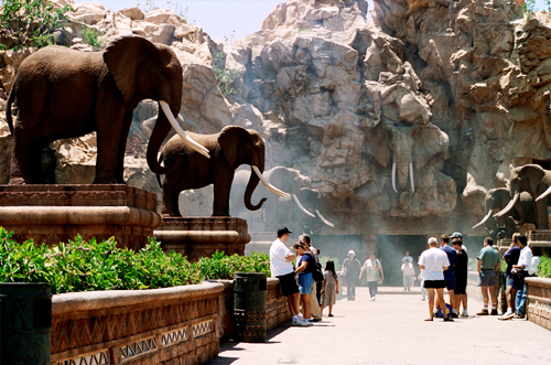
[[[190,261],[209,257],[216,250],[244,255],[250,241],[247,221],[234,217],[164,217],[153,234],[164,251],[175,250]]]

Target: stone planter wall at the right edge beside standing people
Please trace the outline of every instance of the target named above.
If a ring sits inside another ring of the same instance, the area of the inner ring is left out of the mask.
[[[528,320],[551,330],[551,279],[526,278],[526,290]]]

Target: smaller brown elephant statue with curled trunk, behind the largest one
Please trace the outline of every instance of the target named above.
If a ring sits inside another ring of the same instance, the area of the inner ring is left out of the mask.
[[[172,137],[163,148],[160,163],[168,170],[161,185],[163,191],[162,213],[165,216],[181,216],[180,193],[188,189],[199,189],[214,184],[213,216],[229,216],[229,193],[235,171],[241,164],[249,164],[255,171],[250,174],[244,193],[245,206],[250,211],[259,210],[266,202],[260,198],[251,203],[252,192],[261,181],[269,191],[280,196],[285,193],[270,185],[262,176],[264,171],[264,142],[252,129],[238,126],[225,127],[219,133],[188,133],[193,140],[204,146],[210,159],[206,159],[177,136]],[[159,179],[159,175],[158,175]]]

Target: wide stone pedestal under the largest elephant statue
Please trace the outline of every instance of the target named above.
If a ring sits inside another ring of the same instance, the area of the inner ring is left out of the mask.
[[[161,226],[156,194],[117,185],[0,185],[0,225],[23,243],[54,245],[115,236],[138,250]]]

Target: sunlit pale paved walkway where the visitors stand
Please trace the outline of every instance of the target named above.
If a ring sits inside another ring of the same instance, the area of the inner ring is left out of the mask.
[[[266,343],[222,343],[218,358],[209,364],[551,363],[551,331],[529,321],[475,316],[482,303],[471,300],[469,318],[424,322],[429,309],[419,288],[413,294],[380,289],[383,293],[369,301],[368,289],[357,288],[355,301],[341,299],[333,307],[334,318],[310,328],[272,330]]]

